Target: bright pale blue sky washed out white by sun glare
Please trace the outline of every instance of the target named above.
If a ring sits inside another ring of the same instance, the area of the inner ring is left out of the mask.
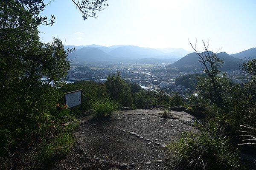
[[[46,3],[47,0],[45,0]],[[81,0],[80,0],[81,1]],[[256,0],[108,0],[97,18],[82,19],[72,0],[52,0],[41,12],[56,17],[39,26],[40,40],[64,45],[137,45],[183,48],[192,45],[235,54],[256,47]]]

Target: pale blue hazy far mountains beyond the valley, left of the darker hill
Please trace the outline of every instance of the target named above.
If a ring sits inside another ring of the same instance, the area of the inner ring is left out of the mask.
[[[71,61],[83,63],[105,63],[105,62],[139,62],[150,63],[172,63],[181,57],[166,54],[155,48],[143,48],[134,45],[113,45],[105,47],[102,45],[65,45],[67,48],[76,48],[69,54]],[[175,50],[176,48],[174,48]],[[183,49],[183,51],[186,51]],[[189,52],[187,52],[189,53]]]

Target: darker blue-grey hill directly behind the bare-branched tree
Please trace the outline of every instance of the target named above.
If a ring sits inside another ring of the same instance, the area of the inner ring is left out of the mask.
[[[210,52],[212,53],[212,52]],[[225,52],[216,54],[216,57],[222,59],[224,64],[220,70],[229,70],[231,68],[239,68],[240,59],[237,59]],[[179,68],[180,71],[201,71],[203,70],[201,62],[198,61],[196,53],[190,53],[185,57],[179,59],[168,65],[168,68]]]

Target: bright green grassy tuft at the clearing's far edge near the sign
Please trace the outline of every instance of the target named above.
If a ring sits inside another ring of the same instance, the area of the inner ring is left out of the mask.
[[[93,104],[94,117],[106,117],[110,116],[119,105],[115,101],[104,100]]]

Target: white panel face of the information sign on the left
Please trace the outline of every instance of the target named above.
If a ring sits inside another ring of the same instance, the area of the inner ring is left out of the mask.
[[[66,99],[66,105],[68,108],[73,108],[77,105],[81,105],[82,104],[81,91],[74,91],[74,92],[65,94],[65,99]]]

